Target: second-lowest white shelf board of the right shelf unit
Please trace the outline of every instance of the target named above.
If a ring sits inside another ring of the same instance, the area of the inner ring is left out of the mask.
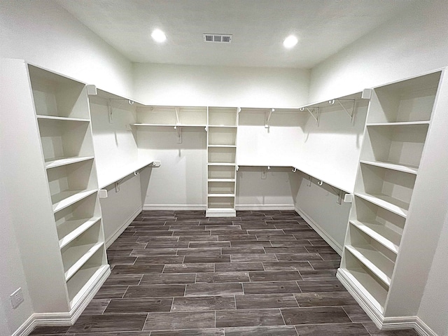
[[[394,262],[386,258],[377,249],[370,245],[365,246],[351,246],[346,245],[345,248],[350,251],[365,267],[370,269],[373,274],[386,284],[391,286],[391,277],[394,267]]]

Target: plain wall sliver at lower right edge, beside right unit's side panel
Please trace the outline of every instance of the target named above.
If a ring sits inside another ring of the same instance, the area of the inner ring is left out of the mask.
[[[419,317],[440,336],[448,335],[448,213],[431,266]],[[440,314],[434,314],[434,311]]]

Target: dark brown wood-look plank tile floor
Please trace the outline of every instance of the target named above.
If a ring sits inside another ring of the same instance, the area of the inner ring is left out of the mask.
[[[107,254],[112,274],[78,321],[31,335],[417,335],[374,326],[294,211],[143,211]]]

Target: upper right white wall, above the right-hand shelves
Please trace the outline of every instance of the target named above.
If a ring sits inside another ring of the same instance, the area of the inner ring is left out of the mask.
[[[315,102],[448,65],[448,1],[421,1],[311,71]]]

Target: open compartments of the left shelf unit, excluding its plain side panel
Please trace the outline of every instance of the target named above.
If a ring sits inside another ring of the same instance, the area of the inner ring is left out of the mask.
[[[98,200],[87,86],[28,65],[66,297],[80,314],[110,272]]]

